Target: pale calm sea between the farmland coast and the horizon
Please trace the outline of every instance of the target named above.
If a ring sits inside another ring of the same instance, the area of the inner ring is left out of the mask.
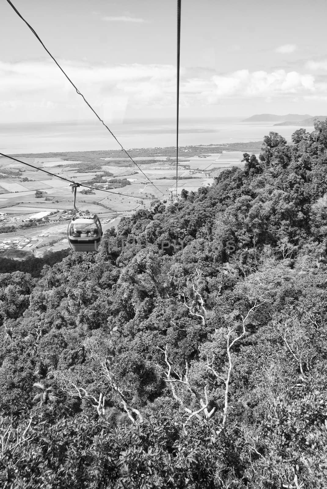
[[[176,146],[176,123],[172,119],[130,120],[107,125],[125,149]],[[262,141],[270,131],[291,141],[297,129],[298,126],[244,123],[227,117],[181,119],[178,146]],[[313,131],[312,127],[305,129]],[[9,155],[108,149],[120,149],[120,146],[96,119],[0,124],[0,152]]]

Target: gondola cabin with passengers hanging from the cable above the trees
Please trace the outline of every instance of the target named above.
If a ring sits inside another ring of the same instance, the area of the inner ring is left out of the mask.
[[[68,224],[68,242],[74,251],[97,251],[103,235],[96,214],[77,214]]]

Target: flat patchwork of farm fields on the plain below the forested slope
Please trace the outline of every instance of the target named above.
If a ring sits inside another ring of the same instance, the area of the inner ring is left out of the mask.
[[[80,210],[98,214],[106,230],[111,225],[116,226],[122,216],[149,208],[153,199],[167,199],[169,205],[171,191],[176,191],[174,151],[174,148],[133,150],[131,156],[138,167],[119,151],[15,155],[36,169],[1,157],[0,227],[10,232],[0,232],[0,251],[24,249],[41,256],[48,249],[56,251],[68,247],[66,229],[71,216],[69,211],[73,209],[69,182],[41,170],[79,183],[96,178],[96,183],[88,185],[97,187],[100,181],[103,188],[109,187],[107,193],[96,189],[90,194],[80,187],[76,200]],[[212,184],[224,168],[242,164],[243,152],[245,150],[228,151],[220,147],[181,149],[177,193],[180,195],[182,189],[196,191],[200,186]],[[110,179],[121,178],[130,184],[119,183],[117,188],[110,188]],[[31,227],[25,228],[26,222],[32,222],[28,224]]]

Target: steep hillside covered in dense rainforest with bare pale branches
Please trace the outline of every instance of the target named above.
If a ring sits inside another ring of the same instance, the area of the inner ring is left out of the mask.
[[[0,274],[2,488],[327,487],[316,130],[269,133],[94,257]]]

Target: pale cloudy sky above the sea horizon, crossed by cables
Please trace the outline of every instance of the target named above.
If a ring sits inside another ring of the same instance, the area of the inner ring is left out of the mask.
[[[176,0],[13,0],[105,122],[173,118]],[[0,123],[94,116],[0,2]],[[326,0],[182,0],[180,117],[327,115]]]

